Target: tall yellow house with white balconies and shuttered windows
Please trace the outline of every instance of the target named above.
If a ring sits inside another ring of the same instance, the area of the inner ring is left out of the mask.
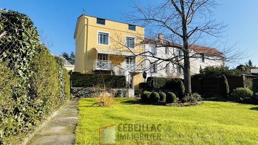
[[[77,19],[74,32],[75,72],[125,75],[129,88],[142,78],[144,27],[89,15]]]

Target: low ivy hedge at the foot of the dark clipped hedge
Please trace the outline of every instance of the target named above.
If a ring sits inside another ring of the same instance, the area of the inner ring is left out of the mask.
[[[128,89],[111,89],[114,97],[129,97]],[[103,91],[101,88],[71,88],[71,94],[75,97],[94,97],[95,92]]]

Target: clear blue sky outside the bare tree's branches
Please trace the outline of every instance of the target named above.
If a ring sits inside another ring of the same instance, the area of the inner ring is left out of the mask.
[[[75,51],[73,33],[77,17],[86,14],[122,21],[121,13],[131,11],[130,0],[0,0],[0,7],[27,14],[39,31],[53,46],[51,53]],[[146,0],[141,0],[145,3]],[[156,0],[149,0],[150,2]],[[237,43],[237,48],[248,49],[250,57],[258,65],[258,0],[218,0],[221,3],[214,12],[218,21],[229,25],[225,32],[228,45]]]

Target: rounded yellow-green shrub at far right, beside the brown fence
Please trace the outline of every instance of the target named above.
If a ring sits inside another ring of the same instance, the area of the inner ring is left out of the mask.
[[[252,103],[253,91],[249,88],[237,88],[232,92],[232,96],[238,102]]]

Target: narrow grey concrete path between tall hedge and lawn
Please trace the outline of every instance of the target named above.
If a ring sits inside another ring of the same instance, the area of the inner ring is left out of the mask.
[[[73,98],[28,145],[73,145],[78,116],[78,98]]]

